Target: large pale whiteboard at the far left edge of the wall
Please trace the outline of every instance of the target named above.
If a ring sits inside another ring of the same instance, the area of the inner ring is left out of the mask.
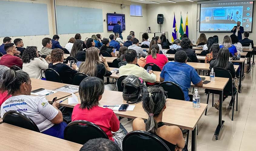
[[[46,4],[0,0],[0,37],[48,35]]]

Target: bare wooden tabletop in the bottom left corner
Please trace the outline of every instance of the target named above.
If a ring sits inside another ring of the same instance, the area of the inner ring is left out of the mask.
[[[82,145],[56,137],[16,127],[0,124],[1,150],[8,151],[78,151]]]

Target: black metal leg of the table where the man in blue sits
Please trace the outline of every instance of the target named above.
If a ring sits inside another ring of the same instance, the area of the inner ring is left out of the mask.
[[[218,140],[219,134],[225,122],[224,120],[222,120],[222,101],[223,101],[223,91],[220,91],[219,123],[214,132],[215,140]],[[192,135],[193,135],[193,132],[192,132]]]

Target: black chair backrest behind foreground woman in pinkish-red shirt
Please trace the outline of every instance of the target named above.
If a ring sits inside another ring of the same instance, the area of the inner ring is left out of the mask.
[[[108,136],[98,125],[86,120],[75,120],[64,130],[64,139],[78,144],[95,138],[108,139]]]

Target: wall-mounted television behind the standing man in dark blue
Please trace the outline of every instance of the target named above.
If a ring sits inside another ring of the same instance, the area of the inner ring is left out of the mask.
[[[122,30],[125,31],[125,14],[107,13],[108,31],[113,31],[113,27],[121,21]]]

